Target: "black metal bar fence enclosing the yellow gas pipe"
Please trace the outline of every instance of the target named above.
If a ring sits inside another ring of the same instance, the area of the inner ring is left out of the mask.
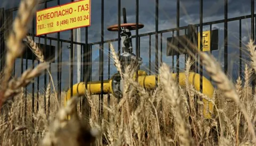
[[[49,1],[42,1],[41,5],[44,5],[45,8],[47,8],[47,3],[51,2],[53,0],[49,0]],[[56,1],[56,0],[55,0]],[[136,0],[136,24],[137,24],[137,29],[135,30],[135,35],[132,36],[132,39],[135,39],[135,55],[137,57],[137,59],[140,57],[140,55],[142,54],[143,50],[141,50],[141,46],[140,46],[140,40],[142,37],[148,37],[148,44],[149,44],[149,54],[148,54],[148,73],[154,73],[154,74],[158,74],[158,68],[159,65],[163,62],[163,55],[167,55],[164,54],[163,52],[163,47],[167,46],[167,44],[164,44],[164,38],[163,35],[165,33],[169,33],[169,37],[179,37],[181,35],[180,32],[183,32],[184,35],[189,36],[191,35],[191,33],[196,33],[196,34],[200,34],[199,38],[200,40],[203,39],[203,33],[198,33],[198,32],[203,32],[203,27],[204,26],[209,26],[209,30],[212,32],[212,25],[214,24],[220,24],[220,23],[224,23],[224,54],[223,54],[223,58],[224,58],[224,66],[223,69],[225,71],[225,73],[228,73],[228,22],[232,22],[232,21],[238,21],[239,23],[239,76],[242,77],[242,21],[244,19],[250,19],[251,20],[251,38],[254,40],[254,1],[251,1],[251,14],[250,15],[244,15],[244,16],[239,16],[236,18],[228,18],[228,1],[225,0],[223,1],[223,5],[225,6],[225,19],[223,20],[218,20],[218,21],[212,21],[212,22],[203,22],[203,0],[198,0],[200,5],[199,5],[199,24],[191,24],[188,26],[184,26],[184,27],[180,27],[180,0],[177,0],[177,27],[173,28],[173,29],[166,29],[166,30],[158,30],[158,0],[155,1],[155,31],[153,32],[149,32],[149,33],[143,33],[143,34],[139,34],[138,31],[138,24],[139,24],[139,1]],[[93,51],[95,50],[99,50],[98,54],[99,54],[99,81],[101,81],[101,94],[99,95],[99,100],[102,101],[103,100],[103,79],[110,79],[111,73],[110,73],[110,69],[111,67],[111,60],[110,60],[110,48],[109,48],[109,43],[113,42],[113,43],[117,43],[117,51],[118,51],[118,55],[121,54],[121,36],[120,36],[120,29],[118,29],[118,38],[116,39],[110,39],[110,40],[106,40],[104,37],[104,2],[101,0],[101,41],[98,42],[93,42],[93,43],[89,43],[88,39],[89,39],[89,34],[88,34],[88,30],[90,29],[90,27],[85,27],[85,40],[84,43],[82,42],[75,42],[74,38],[73,38],[73,30],[68,30],[70,31],[70,39],[61,39],[60,36],[60,32],[57,33],[57,37],[49,37],[49,35],[42,35],[39,37],[35,37],[35,19],[33,20],[33,27],[30,30],[30,35],[33,37],[33,39],[41,44],[43,50],[44,50],[44,55],[46,56],[47,61],[51,62],[51,68],[50,71],[52,71],[52,75],[54,77],[55,80],[55,85],[57,86],[57,90],[58,90],[58,99],[60,100],[60,96],[61,96],[61,92],[64,90],[62,89],[62,83],[66,82],[68,84],[68,87],[71,88],[71,95],[72,95],[72,88],[73,88],[73,84],[76,83],[74,82],[74,45],[80,45],[82,48],[81,54],[82,58],[81,58],[81,66],[82,66],[82,71],[81,74],[83,76],[81,81],[77,81],[77,82],[88,82],[88,81],[92,81],[92,54]],[[118,28],[121,28],[121,0],[117,0],[118,3]],[[57,0],[57,4],[60,5],[60,0]],[[4,67],[4,53],[5,53],[5,43],[4,43],[4,39],[6,38],[4,36],[4,33],[7,33],[7,31],[10,29],[11,27],[11,23],[12,20],[14,18],[14,13],[15,11],[17,11],[18,7],[15,8],[11,8],[11,9],[7,9],[4,10],[4,8],[0,9],[0,28],[4,28],[4,29],[0,29],[0,55],[1,55],[1,71],[3,70]],[[4,19],[3,19],[4,18]],[[253,18],[253,19],[251,19]],[[93,18],[92,18],[93,19]],[[192,28],[192,29],[191,29]],[[193,30],[195,29],[195,31]],[[194,34],[195,35],[195,34]],[[218,37],[218,35],[217,35]],[[155,54],[152,54],[152,40],[155,40]],[[156,41],[157,40],[157,41]],[[214,40],[213,40],[214,41]],[[195,42],[197,44],[197,42]],[[217,43],[217,49],[219,48],[218,46],[218,41]],[[105,46],[107,47],[105,47]],[[178,47],[181,46],[181,44],[179,42],[177,42],[176,44]],[[46,49],[47,48],[47,49]],[[99,48],[99,49],[95,49],[95,48]],[[212,47],[211,47],[212,48]],[[167,49],[167,48],[166,48]],[[201,41],[200,45],[199,45],[199,49],[203,50],[203,42]],[[46,50],[51,50],[50,52],[46,52]],[[57,53],[55,53],[55,50],[57,50]],[[213,50],[210,50],[210,53],[212,53]],[[69,55],[68,59],[67,56],[63,56],[63,52],[65,52],[65,55]],[[13,70],[13,75],[17,75],[17,74],[21,74],[25,69],[27,69],[29,67],[29,63],[31,66],[35,66],[36,64],[39,63],[39,61],[36,60],[34,55],[29,55],[29,48],[27,48],[27,51],[25,51],[25,54],[23,54],[23,56],[21,56],[19,59],[17,59],[17,61],[15,62],[15,67]],[[184,55],[185,54],[185,62],[186,62],[186,58],[188,56],[187,53],[180,53],[180,51],[177,51],[176,53],[172,52],[173,54],[171,55],[171,67],[173,72],[179,74],[180,72],[180,55]],[[54,54],[54,55],[51,55]],[[104,60],[104,54],[108,54],[108,61],[105,62]],[[155,55],[155,63],[151,63],[151,58],[152,56]],[[28,58],[28,56],[32,56],[32,58]],[[47,58],[49,57],[49,58]],[[23,58],[23,59],[21,59]],[[25,66],[23,65],[25,62]],[[174,63],[175,62],[175,63]],[[63,66],[63,64],[67,64],[66,66]],[[107,71],[104,70],[104,66],[107,65]],[[54,67],[53,67],[54,66]],[[67,66],[69,66],[69,68],[67,68]],[[152,67],[154,66],[154,67]],[[66,67],[66,68],[63,68]],[[20,71],[17,72],[17,70]],[[54,71],[53,71],[54,70]],[[65,79],[63,79],[63,73],[67,74],[67,70],[68,70],[68,76],[69,79],[67,81],[65,76]],[[201,63],[201,60],[197,57],[196,60],[196,64],[193,68],[193,70],[195,70],[195,72],[199,73],[201,75],[201,85],[200,88],[202,90],[203,84],[202,84],[202,76],[203,76],[203,66]],[[107,75],[104,76],[104,72],[107,72]],[[138,76],[138,73],[137,73]],[[41,84],[42,84],[42,80],[43,80],[43,89],[41,89]],[[47,88],[47,82],[50,80],[50,76],[47,75],[47,72],[45,71],[43,76],[38,77],[35,81],[33,82],[31,85],[29,85],[30,87],[26,88],[25,90],[25,100],[27,97],[27,90],[30,88],[31,89],[31,97],[32,97],[32,106],[36,107],[35,109],[33,109],[33,112],[35,110],[38,110],[38,103],[35,103],[35,98],[38,99],[39,97],[39,91],[40,90],[46,90]],[[156,79],[157,80],[157,79]],[[179,80],[179,78],[178,78]],[[211,79],[210,79],[211,80]],[[254,80],[252,80],[252,85],[254,87]],[[253,92],[254,92],[254,88],[253,88]],[[108,99],[109,99],[109,95],[108,95]],[[46,105],[46,98],[44,95],[44,102]],[[50,101],[50,100],[49,100]],[[103,104],[103,102],[100,102],[101,104]],[[50,106],[50,103],[48,104]]]

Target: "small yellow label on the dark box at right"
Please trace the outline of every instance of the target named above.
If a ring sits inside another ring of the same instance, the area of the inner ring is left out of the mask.
[[[203,51],[209,51],[211,48],[211,31],[203,31]],[[198,33],[198,49],[200,50],[200,32]]]

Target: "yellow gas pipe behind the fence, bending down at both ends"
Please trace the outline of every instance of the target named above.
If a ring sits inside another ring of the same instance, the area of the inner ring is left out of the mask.
[[[172,77],[175,79],[176,78],[176,73],[172,74]],[[189,73],[189,79],[188,82],[189,84],[193,84],[195,89],[197,91],[200,91],[200,75],[198,73],[190,72]],[[138,82],[143,88],[147,89],[154,89],[156,87],[156,75],[147,75],[146,72],[144,71],[139,71],[138,74]],[[103,94],[111,93],[113,94],[113,89],[111,86],[112,83],[112,78],[110,80],[104,80],[103,81]],[[158,78],[159,82],[159,78]],[[185,73],[179,73],[179,84],[181,87],[185,87],[186,85],[186,75]],[[77,83],[73,85],[73,96],[83,96],[85,95],[85,83]],[[68,90],[64,104],[66,106],[67,100],[70,99],[70,91],[71,89]],[[92,81],[87,83],[87,91],[91,93],[92,95],[99,95],[101,93],[101,83],[100,81]],[[208,96],[209,98],[212,98],[214,92],[214,87],[211,84],[209,80],[207,80],[203,76],[203,94]],[[203,99],[204,103],[204,116],[205,118],[211,118],[211,113],[213,113],[213,105],[211,102]],[[210,111],[210,112],[209,112]]]

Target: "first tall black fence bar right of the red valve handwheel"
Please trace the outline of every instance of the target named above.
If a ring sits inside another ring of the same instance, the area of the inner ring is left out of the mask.
[[[155,72],[156,74],[158,74],[158,0],[156,0],[156,16],[155,16],[155,19],[156,19],[156,41],[155,41],[155,45],[156,45],[156,56],[155,56]],[[158,85],[158,78],[157,78],[157,75],[156,75],[156,85]]]

